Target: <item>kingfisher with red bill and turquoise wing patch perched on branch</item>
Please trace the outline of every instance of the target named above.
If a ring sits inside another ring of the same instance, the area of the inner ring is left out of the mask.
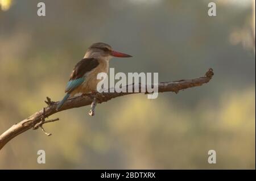
[[[97,91],[97,74],[109,71],[109,60],[113,57],[132,57],[129,54],[117,52],[106,43],[94,43],[85,53],[84,58],[77,62],[67,83],[64,98],[57,105],[56,110],[60,110],[69,97],[89,94]]]

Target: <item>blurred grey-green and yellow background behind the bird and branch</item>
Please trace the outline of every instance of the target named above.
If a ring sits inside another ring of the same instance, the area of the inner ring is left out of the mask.
[[[255,169],[255,1],[0,0],[0,132],[64,96],[73,66],[102,41],[133,55],[115,72],[212,81],[157,99],[128,95],[56,113],[0,151],[0,169]],[[208,16],[215,2],[217,16]],[[46,151],[46,164],[37,151]],[[208,150],[217,163],[208,163]]]

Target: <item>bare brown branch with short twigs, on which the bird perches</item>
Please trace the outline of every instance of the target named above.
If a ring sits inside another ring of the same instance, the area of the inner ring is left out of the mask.
[[[209,69],[207,73],[205,73],[204,77],[186,79],[186,80],[180,80],[180,81],[174,81],[174,82],[161,82],[158,84],[158,92],[176,92],[177,93],[179,92],[179,90],[184,90],[189,87],[201,86],[204,83],[208,83],[212,78],[212,76],[213,76],[213,70]],[[138,85],[138,86],[141,87],[141,85]],[[110,99],[117,98],[123,95],[128,95],[128,94],[138,94],[138,93],[103,92],[100,94],[96,94],[97,103],[107,102]],[[146,92],[145,94],[148,94],[148,92]],[[42,127],[43,124],[59,120],[59,119],[53,119],[53,120],[46,121],[44,120],[46,117],[51,116],[56,112],[69,110],[69,109],[81,107],[81,106],[88,106],[92,104],[92,102],[93,102],[93,96],[81,95],[75,98],[68,99],[67,102],[64,103],[63,107],[61,107],[59,111],[56,111],[56,107],[59,102],[52,102],[51,99],[47,97],[46,103],[48,106],[46,108],[43,108],[42,110],[28,117],[27,119],[24,119],[23,121],[20,121],[19,123],[14,124],[11,128],[7,129],[7,131],[5,131],[0,135],[0,149],[2,149],[3,146],[5,146],[7,142],[9,142],[11,139],[27,131],[28,129],[31,129],[31,128],[37,129],[38,127],[43,129]],[[92,104],[92,110],[95,108],[95,106],[93,106]],[[47,133],[47,132],[45,133],[47,135],[51,135],[50,133]]]

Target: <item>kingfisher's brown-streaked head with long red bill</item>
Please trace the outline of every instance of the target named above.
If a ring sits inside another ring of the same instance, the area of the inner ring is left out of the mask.
[[[85,58],[104,58],[110,60],[112,57],[131,57],[129,54],[117,52],[112,49],[112,47],[106,43],[94,43],[92,44],[87,52],[85,53]]]

